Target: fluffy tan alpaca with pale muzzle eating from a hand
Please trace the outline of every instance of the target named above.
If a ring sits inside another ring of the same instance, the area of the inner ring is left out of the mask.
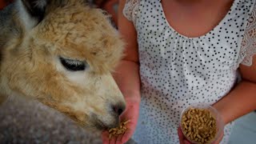
[[[32,98],[80,126],[118,126],[125,100],[111,76],[124,42],[84,0],[17,0],[0,11],[0,103]]]

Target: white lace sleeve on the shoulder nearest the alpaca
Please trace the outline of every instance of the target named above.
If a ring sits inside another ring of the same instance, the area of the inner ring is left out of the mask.
[[[123,15],[131,22],[136,23],[138,6],[140,0],[126,0],[126,5],[122,10]]]

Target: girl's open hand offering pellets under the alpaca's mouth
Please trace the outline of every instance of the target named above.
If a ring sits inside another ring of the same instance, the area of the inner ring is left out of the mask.
[[[121,122],[130,120],[130,122],[126,124],[127,130],[125,134],[119,135],[118,137],[113,136],[109,139],[109,132],[105,130],[102,132],[103,144],[123,144],[131,138],[131,136],[134,134],[134,130],[138,122],[138,108],[138,102],[127,102],[126,100],[126,110],[120,116]]]

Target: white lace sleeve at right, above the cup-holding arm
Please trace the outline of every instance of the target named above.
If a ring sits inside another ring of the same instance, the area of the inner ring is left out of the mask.
[[[256,54],[256,8],[252,10],[247,21],[245,34],[243,35],[238,63],[251,66],[253,56]]]

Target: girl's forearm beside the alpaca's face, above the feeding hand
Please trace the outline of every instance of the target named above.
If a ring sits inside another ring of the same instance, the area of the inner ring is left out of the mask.
[[[140,102],[140,78],[137,62],[122,60],[114,72],[114,79],[126,102]]]

